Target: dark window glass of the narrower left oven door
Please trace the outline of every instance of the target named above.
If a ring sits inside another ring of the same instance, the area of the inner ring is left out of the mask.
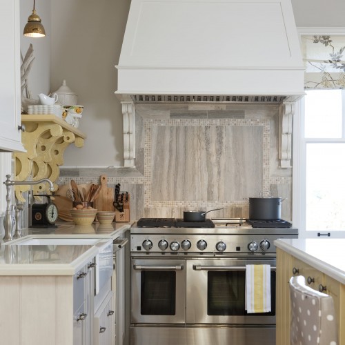
[[[175,271],[141,271],[141,315],[175,315],[175,296]]]

